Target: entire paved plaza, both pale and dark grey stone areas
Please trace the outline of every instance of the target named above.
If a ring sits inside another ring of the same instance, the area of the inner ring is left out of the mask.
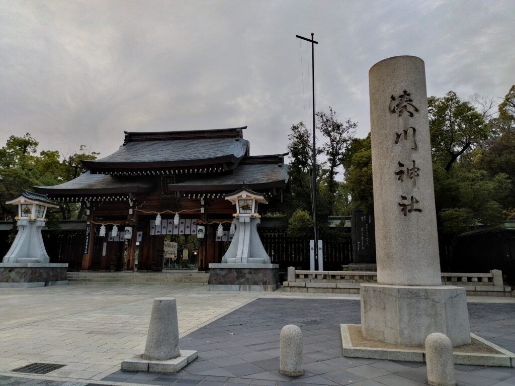
[[[423,363],[341,356],[339,324],[359,323],[359,301],[353,295],[95,284],[0,289],[0,296],[0,385],[426,382]],[[177,299],[181,348],[198,350],[199,358],[179,374],[120,371],[122,360],[143,352],[152,301],[163,296]],[[468,301],[472,332],[515,352],[515,298],[469,297]],[[279,332],[290,323],[304,334],[306,372],[298,378],[278,373]],[[33,362],[65,366],[44,376],[11,372]],[[460,385],[515,385],[515,369],[455,368]]]

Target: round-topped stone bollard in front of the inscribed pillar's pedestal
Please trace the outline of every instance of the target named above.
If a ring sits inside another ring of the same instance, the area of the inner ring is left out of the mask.
[[[433,386],[454,386],[454,358],[449,337],[433,332],[425,339],[427,383]]]

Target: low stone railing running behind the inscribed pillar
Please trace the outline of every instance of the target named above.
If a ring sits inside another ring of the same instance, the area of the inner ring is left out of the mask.
[[[441,274],[442,285],[465,287],[468,295],[511,296],[511,288],[504,286],[500,270],[490,273]],[[359,293],[360,283],[377,282],[375,271],[302,271],[288,268],[288,280],[283,292]]]

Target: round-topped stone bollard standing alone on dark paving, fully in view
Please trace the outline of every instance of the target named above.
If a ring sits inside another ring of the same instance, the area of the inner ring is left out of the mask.
[[[279,372],[290,377],[304,374],[302,365],[302,331],[293,324],[287,324],[279,336]]]

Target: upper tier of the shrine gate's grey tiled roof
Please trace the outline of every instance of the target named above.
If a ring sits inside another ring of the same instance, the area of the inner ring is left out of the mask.
[[[92,173],[211,166],[230,170],[248,153],[245,128],[125,132],[124,144],[113,154],[82,164]]]

